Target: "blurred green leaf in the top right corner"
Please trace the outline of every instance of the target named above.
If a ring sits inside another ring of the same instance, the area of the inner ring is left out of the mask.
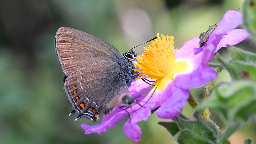
[[[256,36],[256,0],[245,0],[242,9],[245,28]]]

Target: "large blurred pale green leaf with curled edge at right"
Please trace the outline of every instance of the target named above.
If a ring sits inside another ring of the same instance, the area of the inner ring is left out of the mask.
[[[222,84],[197,109],[205,107],[220,111],[229,122],[245,122],[256,115],[256,83],[243,80]]]

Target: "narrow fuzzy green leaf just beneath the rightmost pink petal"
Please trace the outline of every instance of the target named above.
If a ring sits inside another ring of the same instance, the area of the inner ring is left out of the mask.
[[[234,46],[228,47],[228,51],[232,57],[233,61],[241,60],[244,62],[256,63],[256,54],[242,49],[236,48]]]

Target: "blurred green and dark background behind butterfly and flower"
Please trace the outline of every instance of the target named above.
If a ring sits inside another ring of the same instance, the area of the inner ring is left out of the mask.
[[[64,94],[62,72],[54,49],[60,27],[72,27],[97,36],[121,52],[156,36],[175,37],[175,48],[198,37],[209,25],[219,22],[228,10],[238,10],[242,0],[2,0],[0,1],[0,143],[137,143],[123,133],[125,120],[101,135],[85,135],[82,123],[74,121]],[[147,45],[147,44],[146,44]],[[252,45],[244,41],[239,46]],[[142,46],[136,52],[142,51]],[[252,50],[250,50],[252,51]],[[220,50],[228,58],[226,48]],[[217,78],[228,82],[222,72]],[[193,89],[202,95],[203,87]],[[201,98],[197,97],[200,101]],[[185,106],[183,113],[191,116]],[[212,118],[221,129],[225,122]],[[138,143],[174,143],[155,114],[140,122]],[[168,120],[163,120],[168,121]],[[231,136],[233,143],[256,138],[256,126],[245,125]]]

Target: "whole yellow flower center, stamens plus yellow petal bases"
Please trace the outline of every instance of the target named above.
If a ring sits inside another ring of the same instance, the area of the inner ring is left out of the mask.
[[[162,90],[165,85],[174,80],[175,74],[184,72],[188,68],[187,61],[175,62],[176,50],[174,50],[174,37],[156,34],[157,38],[151,41],[143,54],[142,58],[137,58],[137,63],[134,63],[137,68],[135,71],[140,72],[139,78],[157,79],[154,83],[158,90]]]

